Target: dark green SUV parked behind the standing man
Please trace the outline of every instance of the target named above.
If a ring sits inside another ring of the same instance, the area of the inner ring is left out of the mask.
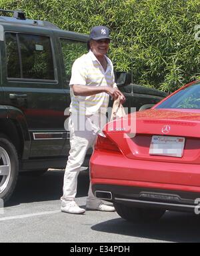
[[[13,17],[0,16],[0,198],[4,201],[13,193],[19,171],[43,173],[65,167],[71,65],[87,52],[89,39],[47,21],[26,19],[20,11],[13,13]],[[129,85],[123,73],[118,80],[127,97],[125,107],[149,108],[166,96]]]

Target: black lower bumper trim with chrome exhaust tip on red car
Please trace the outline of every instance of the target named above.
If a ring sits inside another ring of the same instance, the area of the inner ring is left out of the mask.
[[[186,211],[199,214],[200,193],[126,187],[117,185],[92,185],[97,198],[141,208],[159,208],[169,211]],[[105,194],[107,193],[107,194]],[[109,193],[109,194],[108,194]],[[109,198],[106,198],[108,195]],[[198,199],[195,203],[195,199]]]

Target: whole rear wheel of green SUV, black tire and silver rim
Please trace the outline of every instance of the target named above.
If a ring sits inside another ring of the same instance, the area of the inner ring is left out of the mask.
[[[0,168],[5,168],[4,173],[0,173],[0,198],[5,203],[13,194],[17,183],[19,160],[15,146],[2,133],[0,133],[0,151]]]

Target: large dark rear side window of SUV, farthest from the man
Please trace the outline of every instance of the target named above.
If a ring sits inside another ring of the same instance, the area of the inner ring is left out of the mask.
[[[54,79],[49,37],[5,33],[7,76],[24,79]]]

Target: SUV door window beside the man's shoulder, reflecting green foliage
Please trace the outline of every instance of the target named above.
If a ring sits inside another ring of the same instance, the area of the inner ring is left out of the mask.
[[[60,39],[63,52],[63,61],[65,65],[65,80],[69,81],[71,77],[71,67],[73,62],[84,53],[87,53],[87,44],[80,41]]]

